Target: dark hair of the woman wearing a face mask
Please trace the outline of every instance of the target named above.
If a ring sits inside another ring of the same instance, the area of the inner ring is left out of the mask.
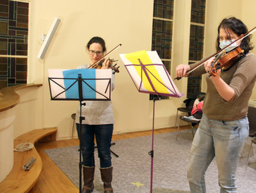
[[[216,41],[216,49],[220,50],[219,48],[219,29],[224,29],[225,31],[228,31],[229,29],[232,30],[235,34],[238,35],[238,37],[241,34],[246,34],[248,32],[248,29],[246,25],[241,21],[238,20],[237,18],[225,18],[222,20],[222,22],[219,24],[218,27],[218,37]],[[241,44],[240,47],[242,50],[244,50],[244,53],[249,53],[249,50],[252,50],[254,47],[252,46],[252,43],[250,42],[252,35],[249,35],[245,37]]]

